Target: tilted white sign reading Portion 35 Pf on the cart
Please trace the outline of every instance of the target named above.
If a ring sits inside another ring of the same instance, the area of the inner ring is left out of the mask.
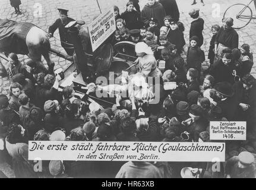
[[[113,8],[100,14],[88,26],[93,52],[116,30]]]

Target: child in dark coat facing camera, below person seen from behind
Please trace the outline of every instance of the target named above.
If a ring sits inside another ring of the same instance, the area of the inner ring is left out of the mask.
[[[201,64],[205,61],[205,56],[203,50],[197,46],[198,44],[198,37],[192,36],[190,40],[190,45],[188,46],[187,52],[187,66],[189,68],[197,69],[198,73],[198,80],[200,80],[201,74]]]

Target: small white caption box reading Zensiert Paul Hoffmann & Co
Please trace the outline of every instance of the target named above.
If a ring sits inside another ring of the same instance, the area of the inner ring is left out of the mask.
[[[210,140],[246,140],[246,122],[210,122]]]

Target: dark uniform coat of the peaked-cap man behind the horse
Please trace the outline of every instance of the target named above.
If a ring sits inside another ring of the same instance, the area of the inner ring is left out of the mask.
[[[58,18],[55,23],[53,23],[50,27],[49,27],[49,33],[54,33],[57,29],[59,29],[59,37],[61,39],[61,46],[62,47],[72,47],[72,46],[69,46],[67,45],[66,43],[71,43],[72,44],[72,40],[71,40],[71,37],[69,37],[69,34],[68,34],[68,29],[65,28],[65,26],[71,22],[71,21],[74,21],[74,19],[72,18],[67,18],[67,21],[66,23],[63,23],[62,24],[62,21],[61,21],[61,18]],[[63,43],[65,42],[65,43]]]

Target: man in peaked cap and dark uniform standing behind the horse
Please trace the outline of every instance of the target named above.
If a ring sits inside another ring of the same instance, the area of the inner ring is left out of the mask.
[[[58,8],[59,11],[59,17],[55,23],[53,23],[49,27],[49,33],[50,37],[53,36],[53,33],[59,29],[59,37],[61,38],[61,46],[65,49],[68,55],[72,56],[74,53],[74,46],[72,45],[72,41],[68,34],[68,29],[65,28],[65,26],[71,22],[74,21],[74,19],[68,17],[68,10],[67,9],[61,9]]]

